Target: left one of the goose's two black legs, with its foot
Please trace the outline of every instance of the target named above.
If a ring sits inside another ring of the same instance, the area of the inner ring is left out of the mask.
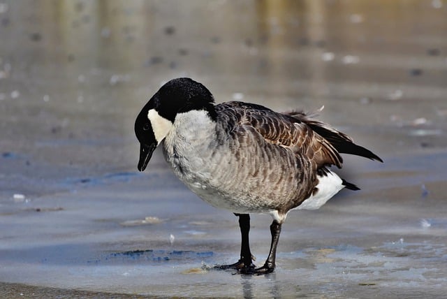
[[[251,255],[249,233],[250,233],[250,215],[249,214],[235,214],[239,217],[239,227],[241,235],[240,245],[240,260],[230,265],[219,265],[220,269],[237,269],[242,272],[249,272],[254,270],[253,260],[254,256]]]

